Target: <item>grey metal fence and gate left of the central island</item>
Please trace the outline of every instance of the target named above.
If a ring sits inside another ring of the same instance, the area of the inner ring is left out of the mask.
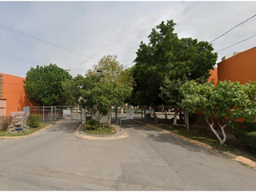
[[[30,106],[30,114],[40,114],[42,122],[54,122],[59,120],[84,122],[84,110],[76,106]]]

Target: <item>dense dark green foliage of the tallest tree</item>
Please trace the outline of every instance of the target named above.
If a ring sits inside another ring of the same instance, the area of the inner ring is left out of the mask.
[[[208,78],[209,70],[214,69],[217,54],[213,54],[213,47],[208,42],[198,42],[192,38],[178,38],[174,33],[173,20],[161,22],[148,36],[150,42],[141,42],[137,51],[135,66],[132,68],[135,81],[132,102],[138,105],[157,106],[170,102],[179,102],[180,98],[166,98],[166,78],[173,80],[191,80]],[[169,87],[167,83],[167,87]],[[177,82],[179,83],[179,82]],[[174,83],[172,83],[174,84]],[[178,85],[176,86],[178,87]],[[174,92],[171,90],[170,92]],[[163,100],[162,100],[163,99]],[[175,105],[176,105],[175,103]]]

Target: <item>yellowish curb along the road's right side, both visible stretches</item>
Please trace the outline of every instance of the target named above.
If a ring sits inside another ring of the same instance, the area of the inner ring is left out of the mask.
[[[134,120],[135,122],[139,122],[138,120]],[[142,123],[142,122],[139,122],[139,123]],[[142,123],[143,124],[143,123]],[[171,136],[174,136],[175,138],[181,138],[182,140],[186,141],[186,142],[191,142],[193,143],[194,145],[198,145],[198,146],[203,146],[203,147],[206,147],[207,149],[213,149],[211,146],[205,144],[205,143],[202,143],[202,142],[198,142],[194,139],[191,139],[191,138],[186,138],[182,135],[179,135],[179,134],[174,134],[174,133],[171,133],[170,131],[168,130],[163,130],[161,128],[159,128],[158,126],[152,126],[150,124],[147,124],[146,123],[146,126],[149,126],[150,128],[153,128],[154,130],[158,130],[158,131],[161,131],[162,133],[165,133],[165,134],[169,134]],[[236,156],[234,154],[234,156]],[[244,164],[246,164],[247,166],[250,166],[251,168],[253,168],[254,170],[256,170],[256,162],[250,160],[249,158],[244,158],[242,156],[236,156],[236,158],[233,158],[235,161],[237,162],[242,162]]]

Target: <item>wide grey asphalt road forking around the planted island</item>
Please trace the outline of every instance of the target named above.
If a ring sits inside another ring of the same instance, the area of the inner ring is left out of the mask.
[[[77,126],[1,139],[0,190],[256,190],[256,170],[131,120],[113,141],[76,138]]]

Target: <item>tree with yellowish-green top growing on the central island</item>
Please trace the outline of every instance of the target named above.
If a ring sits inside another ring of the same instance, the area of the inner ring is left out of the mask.
[[[96,113],[98,111],[98,122],[102,115],[108,115],[110,123],[110,109],[114,105],[122,105],[133,90],[133,78],[130,76],[130,70],[116,61],[116,55],[104,56],[93,70],[86,73],[85,84],[80,90],[82,98],[86,102],[82,105],[90,108]],[[101,74],[97,74],[101,70]]]

